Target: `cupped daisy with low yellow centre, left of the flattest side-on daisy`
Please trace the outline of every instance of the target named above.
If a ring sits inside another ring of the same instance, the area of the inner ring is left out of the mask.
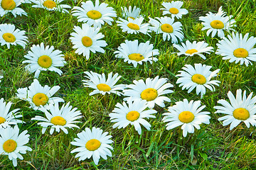
[[[159,55],[159,50],[153,50],[153,47],[152,44],[149,44],[149,41],[138,44],[138,40],[125,40],[114,54],[117,54],[115,57],[122,58],[124,62],[132,63],[134,67],[137,67],[137,64],[142,64],[142,62],[150,62],[152,64],[152,62],[158,60],[153,56]]]

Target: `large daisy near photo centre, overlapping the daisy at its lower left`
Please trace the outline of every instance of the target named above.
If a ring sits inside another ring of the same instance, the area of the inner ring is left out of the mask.
[[[157,76],[154,79],[147,78],[146,83],[142,79],[133,82],[134,84],[127,85],[129,89],[124,90],[124,96],[127,96],[124,101],[145,100],[149,108],[154,108],[155,104],[164,108],[164,101],[171,101],[170,98],[162,96],[174,92],[169,90],[173,85],[166,83],[167,79],[159,79],[159,76]]]

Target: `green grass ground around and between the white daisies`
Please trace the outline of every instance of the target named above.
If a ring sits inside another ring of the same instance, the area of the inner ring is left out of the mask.
[[[102,1],[101,1],[102,2]],[[161,0],[108,0],[105,3],[112,6],[117,11],[117,16],[121,16],[121,6],[138,6],[141,13],[148,17],[161,17]],[[64,3],[63,3],[64,4]],[[66,4],[76,6],[73,1]],[[80,6],[80,4],[78,4]],[[217,49],[218,37],[210,38],[206,36],[206,31],[201,31],[203,26],[198,21],[199,16],[206,16],[208,11],[216,13],[219,6],[228,15],[233,15],[236,21],[237,30],[245,35],[256,36],[256,1],[224,1],[224,0],[185,0],[183,8],[188,9],[188,14],[179,21],[183,25],[184,40],[206,41],[210,46]],[[28,44],[24,50],[21,46],[0,47],[0,75],[4,75],[1,82],[0,98],[13,102],[11,110],[21,108],[23,120],[26,124],[19,125],[21,130],[28,130],[30,141],[28,146],[32,152],[23,154],[23,161],[18,159],[18,166],[15,168],[5,155],[0,155],[0,169],[256,169],[256,143],[255,128],[247,129],[241,123],[234,130],[229,130],[229,125],[223,127],[218,121],[220,114],[215,114],[213,106],[217,105],[219,99],[227,99],[228,91],[233,94],[237,89],[256,92],[255,63],[246,67],[222,60],[220,55],[212,52],[206,55],[206,60],[199,56],[186,58],[178,57],[173,52],[176,49],[170,41],[163,41],[162,35],[151,33],[149,35],[128,35],[122,33],[114,18],[112,26],[103,26],[100,30],[105,35],[107,42],[105,54],[96,53],[90,55],[89,60],[85,60],[82,55],[75,54],[73,45],[70,42],[70,33],[73,33],[74,26],[81,26],[77,18],[70,13],[58,13],[46,11],[42,8],[32,8],[31,4],[22,4],[21,8],[28,13],[28,16],[6,15],[0,18],[1,23],[12,23],[20,30],[26,30]],[[114,51],[124,42],[124,40],[139,40],[146,42],[150,40],[154,48],[159,49],[158,62],[149,62],[134,68],[132,64],[124,63],[123,60],[114,57]],[[32,45],[44,42],[45,45],[53,45],[55,49],[63,51],[67,64],[62,67],[63,75],[59,76],[55,72],[41,72],[38,78],[41,85],[60,86],[58,95],[64,98],[65,102],[77,107],[84,118],[82,123],[78,123],[80,129],[69,130],[68,135],[64,132],[54,132],[49,134],[49,130],[44,135],[41,134],[41,127],[37,122],[31,120],[35,115],[44,114],[41,111],[33,111],[29,108],[29,103],[21,101],[16,97],[16,90],[30,86],[33,82],[33,74],[29,74],[24,69],[26,64],[22,64],[28,50]],[[186,58],[186,59],[185,59]],[[182,91],[176,84],[175,75],[185,64],[202,63],[211,65],[211,70],[220,69],[218,80],[220,86],[216,91],[207,91],[203,98],[196,95],[196,91],[188,94]],[[132,126],[125,129],[113,129],[110,123],[109,113],[112,112],[116,103],[121,103],[123,97],[116,95],[102,96],[97,94],[89,96],[92,89],[82,86],[82,79],[85,71],[97,73],[114,72],[122,76],[119,84],[132,84],[134,79],[154,78],[157,75],[169,79],[169,83],[174,85],[174,93],[167,95],[171,98],[171,103],[166,103],[165,108],[156,106],[155,119],[150,119],[151,130],[142,128],[142,135],[134,130]],[[196,130],[187,137],[182,137],[181,128],[166,130],[166,123],[162,122],[163,113],[169,106],[183,98],[191,100],[201,100],[206,105],[206,111],[210,112],[210,124],[201,125],[201,130]],[[112,157],[107,160],[100,159],[96,166],[92,159],[78,162],[75,154],[70,151],[75,149],[70,142],[77,137],[76,134],[86,127],[101,128],[105,132],[110,132],[114,141],[112,147]],[[252,133],[251,133],[252,132]]]

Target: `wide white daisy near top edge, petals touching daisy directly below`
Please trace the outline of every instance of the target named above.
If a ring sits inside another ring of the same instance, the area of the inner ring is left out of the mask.
[[[105,22],[112,25],[113,18],[117,17],[114,8],[107,7],[107,4],[100,4],[99,0],[95,1],[95,6],[92,1],[82,2],[82,8],[74,6],[73,16],[78,16],[78,22],[84,22],[94,27],[101,27]]]

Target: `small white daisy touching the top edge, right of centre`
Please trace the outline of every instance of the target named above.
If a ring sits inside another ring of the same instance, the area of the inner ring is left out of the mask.
[[[171,18],[181,18],[183,15],[186,15],[188,13],[188,10],[186,8],[181,8],[183,5],[183,1],[171,1],[171,2],[163,2],[162,6],[164,8],[161,8],[160,10],[163,11],[163,15],[171,14]]]

